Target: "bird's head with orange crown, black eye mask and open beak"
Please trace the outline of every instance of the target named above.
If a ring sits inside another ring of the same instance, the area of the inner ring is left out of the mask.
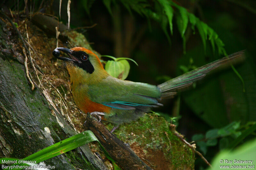
[[[60,56],[60,51],[65,52],[69,57]],[[95,79],[108,74],[100,63],[98,56],[86,48],[75,47],[68,49],[59,47],[55,48],[52,54],[65,62],[64,64],[70,77]]]

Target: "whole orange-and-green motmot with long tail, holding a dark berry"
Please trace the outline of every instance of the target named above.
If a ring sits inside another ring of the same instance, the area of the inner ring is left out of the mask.
[[[60,56],[60,51],[68,57]],[[99,57],[83,48],[55,48],[52,54],[64,61],[70,75],[71,91],[77,107],[84,113],[99,116],[114,124],[137,120],[153,107],[163,106],[161,99],[172,97],[182,89],[204,78],[206,74],[244,60],[244,51],[228,55],[160,85],[132,82],[112,77],[104,70]]]

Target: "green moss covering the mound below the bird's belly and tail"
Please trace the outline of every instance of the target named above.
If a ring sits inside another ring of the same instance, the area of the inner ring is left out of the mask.
[[[146,158],[151,157],[152,164],[157,164],[157,156],[163,153],[169,168],[194,169],[193,152],[171,132],[169,125],[163,117],[145,114],[138,121],[120,126],[115,134],[133,150],[142,149]]]

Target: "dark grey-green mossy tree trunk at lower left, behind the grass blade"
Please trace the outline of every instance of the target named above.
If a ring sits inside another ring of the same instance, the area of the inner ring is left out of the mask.
[[[24,64],[13,53],[13,42],[19,43],[15,32],[8,31],[1,19],[0,53],[0,158],[23,159],[41,149],[75,135],[77,132],[50,107],[41,90],[33,91],[28,83]],[[9,23],[5,23],[6,25]],[[12,36],[7,37],[8,33]],[[107,169],[94,156],[88,145],[45,160],[55,169]]]

